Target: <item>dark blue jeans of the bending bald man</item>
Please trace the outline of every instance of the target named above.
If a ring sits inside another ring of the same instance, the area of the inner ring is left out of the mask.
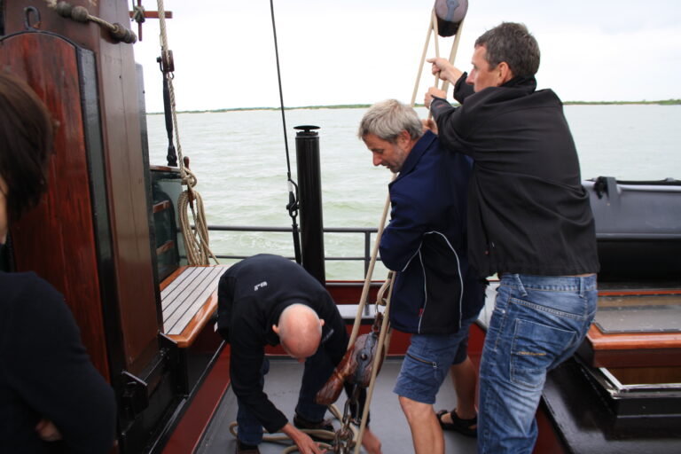
[[[310,422],[324,419],[326,405],[315,403],[317,391],[326,383],[334,366],[325,348],[317,348],[317,353],[305,360],[305,372],[302,374],[301,391],[295,412]],[[270,371],[270,361],[267,357],[262,361],[260,386],[264,385],[265,375]],[[248,411],[237,397],[237,423],[239,424],[239,440],[246,444],[260,444],[262,442],[262,425],[254,414]]]

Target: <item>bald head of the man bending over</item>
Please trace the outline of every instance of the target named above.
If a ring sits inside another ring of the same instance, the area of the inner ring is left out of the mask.
[[[281,312],[278,325],[272,329],[279,336],[281,346],[290,356],[305,359],[312,356],[322,338],[324,320],[304,304],[292,304]]]

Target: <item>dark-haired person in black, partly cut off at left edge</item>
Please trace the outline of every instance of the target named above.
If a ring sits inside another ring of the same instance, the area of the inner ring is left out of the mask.
[[[52,140],[43,102],[0,70],[0,256],[45,190]],[[0,452],[104,454],[115,416],[62,295],[35,273],[0,271]]]

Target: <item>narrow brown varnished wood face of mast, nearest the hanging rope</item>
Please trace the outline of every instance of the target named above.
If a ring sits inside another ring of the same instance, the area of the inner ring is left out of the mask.
[[[107,1],[98,13],[129,27],[129,4]],[[114,239],[121,331],[130,372],[139,373],[158,351],[160,313],[153,284],[145,167],[137,109],[133,47],[99,40],[98,77],[108,197]]]

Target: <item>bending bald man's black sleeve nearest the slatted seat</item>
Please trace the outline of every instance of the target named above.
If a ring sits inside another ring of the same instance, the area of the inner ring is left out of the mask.
[[[239,304],[249,304],[240,301]],[[230,325],[231,361],[230,377],[234,394],[241,403],[247,406],[262,427],[268,432],[278,432],[286,426],[288,419],[271,403],[262,390],[262,361],[265,358],[262,333],[255,333],[251,327],[252,320],[244,320],[234,315]]]

